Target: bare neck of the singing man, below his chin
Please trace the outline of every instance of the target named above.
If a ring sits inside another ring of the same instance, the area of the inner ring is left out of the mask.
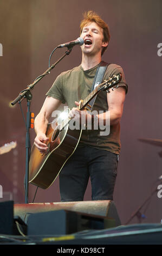
[[[98,65],[101,62],[101,55],[88,56],[87,54],[82,53],[82,62],[81,66],[83,70],[92,69],[94,66]]]

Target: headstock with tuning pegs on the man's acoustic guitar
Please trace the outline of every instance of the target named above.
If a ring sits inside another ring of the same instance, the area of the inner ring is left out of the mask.
[[[109,93],[109,89],[112,88],[113,90],[114,88],[118,88],[118,83],[120,83],[121,77],[121,73],[109,77],[108,80],[105,80],[103,83],[99,84],[98,90],[107,90],[107,92]]]

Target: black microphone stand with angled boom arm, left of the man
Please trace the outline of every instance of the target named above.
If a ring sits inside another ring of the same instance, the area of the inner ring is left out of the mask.
[[[57,47],[56,47],[57,48]],[[55,48],[55,50],[56,50]],[[17,102],[21,104],[21,101],[23,99],[27,99],[27,120],[26,120],[26,142],[25,142],[25,148],[26,148],[26,160],[25,160],[25,180],[24,180],[24,186],[25,186],[25,203],[28,203],[28,183],[29,183],[29,159],[30,159],[30,118],[31,118],[31,113],[30,113],[30,101],[32,99],[32,94],[30,90],[34,89],[34,86],[37,82],[39,82],[44,76],[50,74],[50,70],[55,68],[55,66],[69,53],[72,51],[72,47],[68,47],[68,50],[63,54],[63,56],[57,60],[53,65],[51,65],[42,75],[38,76],[36,80],[32,83],[29,84],[29,86],[22,90],[21,93],[16,97],[14,101],[11,102],[11,105],[14,106]],[[53,51],[54,52],[54,51]]]

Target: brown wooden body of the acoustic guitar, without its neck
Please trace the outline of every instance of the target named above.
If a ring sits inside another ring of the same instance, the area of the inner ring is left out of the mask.
[[[64,112],[67,114],[69,109]],[[70,130],[69,124],[61,131],[59,127],[59,119],[48,124],[46,136],[49,141],[46,154],[41,154],[35,145],[31,149],[29,182],[43,189],[53,184],[80,141],[82,130]]]

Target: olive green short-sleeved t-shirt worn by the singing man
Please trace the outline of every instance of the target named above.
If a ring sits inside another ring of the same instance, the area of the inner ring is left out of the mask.
[[[61,100],[62,103],[67,103],[68,107],[72,109],[76,107],[75,101],[85,100],[90,94],[93,80],[96,74],[97,66],[84,71],[82,66],[76,66],[72,70],[62,72],[53,83],[53,86],[47,92],[47,96],[54,97]],[[127,93],[127,84],[125,81],[124,71],[121,66],[116,64],[109,64],[103,80],[108,80],[109,77],[121,72],[122,78],[120,85],[124,86]],[[107,92],[101,91],[94,102],[92,111],[98,113],[108,111]],[[97,149],[111,151],[114,154],[120,153],[120,123],[110,126],[109,135],[102,135],[98,130],[82,130],[82,135],[78,147],[89,145]]]

